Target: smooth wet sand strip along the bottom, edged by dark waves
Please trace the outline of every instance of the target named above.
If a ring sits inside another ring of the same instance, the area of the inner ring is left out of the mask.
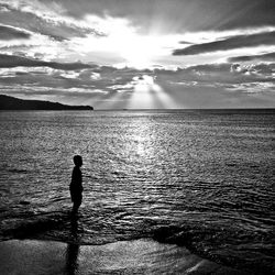
[[[0,242],[0,271],[8,274],[212,274],[244,275],[187,249],[142,239],[105,245],[55,241]]]

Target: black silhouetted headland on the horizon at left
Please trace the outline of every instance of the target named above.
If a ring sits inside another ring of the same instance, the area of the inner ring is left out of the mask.
[[[24,100],[0,95],[0,110],[94,110],[91,106],[68,106],[42,100]]]

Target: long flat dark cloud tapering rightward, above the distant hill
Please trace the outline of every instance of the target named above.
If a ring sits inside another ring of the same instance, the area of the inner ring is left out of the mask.
[[[84,68],[92,68],[95,65],[84,63],[57,63],[57,62],[43,62],[38,59],[31,59],[23,56],[0,54],[0,68],[13,67],[51,67],[55,69],[76,70]]]

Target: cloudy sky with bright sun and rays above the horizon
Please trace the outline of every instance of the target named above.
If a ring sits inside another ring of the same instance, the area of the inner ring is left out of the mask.
[[[0,0],[0,94],[97,109],[275,108],[274,0]]]

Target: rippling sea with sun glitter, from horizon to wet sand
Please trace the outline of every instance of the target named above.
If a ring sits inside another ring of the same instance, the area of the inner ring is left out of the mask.
[[[275,110],[0,112],[0,240],[153,239],[275,272]],[[84,201],[70,222],[73,156]]]

